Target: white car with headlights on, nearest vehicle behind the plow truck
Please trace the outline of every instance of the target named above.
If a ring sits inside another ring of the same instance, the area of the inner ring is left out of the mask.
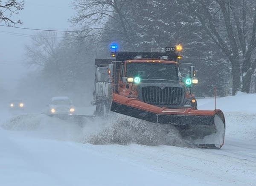
[[[49,111],[52,114],[74,114],[75,107],[67,96],[52,97],[49,104]]]

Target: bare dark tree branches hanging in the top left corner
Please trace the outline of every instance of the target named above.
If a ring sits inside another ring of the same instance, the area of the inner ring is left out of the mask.
[[[24,7],[24,0],[7,0],[5,3],[0,0],[0,23],[3,21],[7,26],[10,24],[22,23],[20,20],[12,20],[13,14],[18,14]]]

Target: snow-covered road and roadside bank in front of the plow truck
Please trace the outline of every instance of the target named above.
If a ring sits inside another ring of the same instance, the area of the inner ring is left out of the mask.
[[[212,102],[199,99],[198,108],[211,109]],[[22,125],[32,122],[35,126],[44,120],[44,124],[57,122],[58,127],[0,129],[0,185],[255,186],[256,108],[250,105],[256,105],[256,94],[225,97],[217,103],[224,110],[227,124],[225,144],[220,150],[92,145],[83,143],[79,128],[58,123],[58,119],[21,118]],[[0,122],[13,125],[9,118],[6,113]],[[21,120],[15,125],[21,125]]]

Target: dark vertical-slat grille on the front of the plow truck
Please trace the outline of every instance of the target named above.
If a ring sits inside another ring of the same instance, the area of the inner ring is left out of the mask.
[[[151,105],[180,105],[183,101],[181,87],[142,87],[142,96]]]

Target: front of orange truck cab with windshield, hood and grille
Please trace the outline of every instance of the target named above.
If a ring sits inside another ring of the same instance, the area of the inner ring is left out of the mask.
[[[135,59],[124,62],[119,94],[166,108],[183,107],[185,88],[175,61]]]

